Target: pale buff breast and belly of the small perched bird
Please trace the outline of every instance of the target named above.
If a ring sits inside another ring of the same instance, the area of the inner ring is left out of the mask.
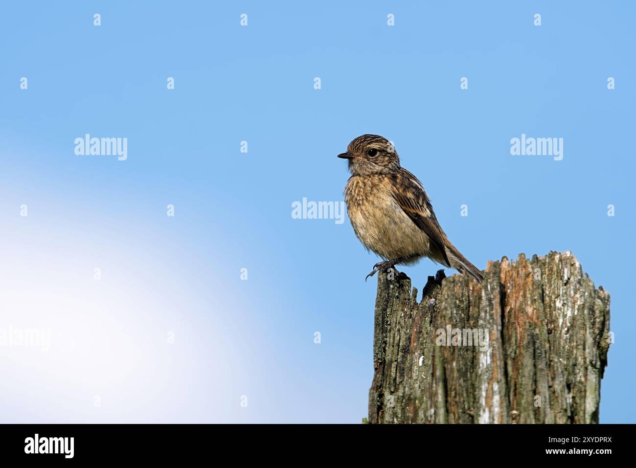
[[[384,259],[429,256],[428,238],[397,205],[385,176],[351,177],[345,202],[354,231],[367,249]]]

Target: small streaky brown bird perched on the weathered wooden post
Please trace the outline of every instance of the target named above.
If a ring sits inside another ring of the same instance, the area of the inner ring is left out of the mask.
[[[422,182],[401,167],[392,142],[361,135],[338,158],[349,160],[344,196],[354,233],[367,251],[384,259],[366,279],[427,257],[481,282],[483,273],[448,240]]]

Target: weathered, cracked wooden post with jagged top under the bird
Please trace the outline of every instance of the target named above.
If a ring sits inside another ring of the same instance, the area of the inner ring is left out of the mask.
[[[570,252],[490,262],[482,284],[440,270],[419,302],[378,275],[368,419],[598,423],[610,341],[609,294]]]

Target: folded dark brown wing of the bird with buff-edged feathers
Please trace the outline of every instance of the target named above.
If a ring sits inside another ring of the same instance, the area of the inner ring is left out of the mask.
[[[392,175],[391,184],[393,198],[404,210],[404,213],[413,220],[429,238],[431,247],[436,247],[443,256],[446,266],[450,266],[446,256],[446,235],[441,230],[438,220],[433,212],[431,200],[424,191],[424,187],[408,170],[400,168]]]

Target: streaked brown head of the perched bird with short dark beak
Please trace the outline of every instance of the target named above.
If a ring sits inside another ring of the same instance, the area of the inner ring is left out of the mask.
[[[399,169],[399,157],[391,142],[380,135],[361,135],[347,146],[347,153],[338,158],[349,160],[354,176],[390,174]]]

